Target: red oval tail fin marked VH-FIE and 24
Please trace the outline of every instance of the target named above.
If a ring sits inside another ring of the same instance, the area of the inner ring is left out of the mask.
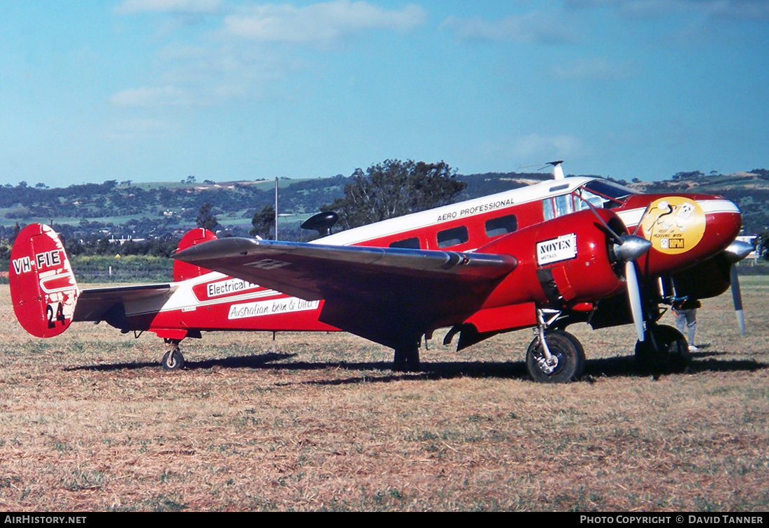
[[[51,227],[29,224],[19,232],[8,282],[16,318],[30,334],[52,337],[72,323],[80,292],[64,244]]]

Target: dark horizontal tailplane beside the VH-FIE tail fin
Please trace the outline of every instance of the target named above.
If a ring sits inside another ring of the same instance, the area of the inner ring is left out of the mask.
[[[106,320],[125,317],[127,304],[141,303],[147,311],[162,306],[173,293],[171,284],[142,284],[138,286],[104,287],[83,290],[78,296],[72,320]],[[122,316],[121,316],[122,314]]]

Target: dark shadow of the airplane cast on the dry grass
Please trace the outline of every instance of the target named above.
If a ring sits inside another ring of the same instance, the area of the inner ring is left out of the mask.
[[[683,374],[696,374],[700,372],[753,372],[769,368],[769,364],[756,360],[723,360],[716,359],[727,354],[715,350],[692,354],[693,360]],[[222,357],[218,359],[188,361],[185,370],[205,370],[211,368],[226,369],[264,369],[264,370],[325,370],[329,368],[344,369],[349,371],[381,370],[383,373],[392,370],[392,364],[388,361],[353,362],[344,361],[298,361],[288,362],[296,354],[281,354],[268,352],[252,356]],[[78,367],[66,367],[64,370],[96,370],[117,371],[135,370],[141,368],[156,367],[156,362],[145,361],[141,363],[118,363],[101,365],[82,365]],[[582,382],[593,383],[601,377],[633,377],[649,376],[654,378],[660,374],[653,374],[640,370],[631,356],[609,357],[604,359],[587,360],[585,371],[581,377]],[[663,373],[662,375],[669,375]],[[681,374],[679,374],[681,375]],[[418,372],[393,373],[391,376],[354,376],[328,380],[302,380],[296,382],[300,385],[343,385],[365,382],[389,382],[405,379],[440,380],[455,377],[498,377],[503,379],[528,379],[528,371],[524,361],[438,361],[434,363],[424,362]],[[285,385],[294,383],[285,382]]]

